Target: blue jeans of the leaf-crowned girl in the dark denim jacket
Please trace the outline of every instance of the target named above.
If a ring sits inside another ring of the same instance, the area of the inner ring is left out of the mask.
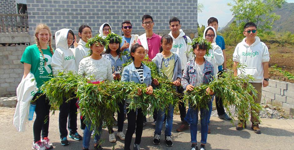
[[[211,103],[211,102],[210,102]],[[197,124],[198,124],[198,109],[195,109],[193,106],[190,106],[190,134],[191,134],[191,143],[197,143]],[[200,123],[201,123],[201,143],[206,144],[207,140],[207,131],[208,131],[208,117],[209,110],[206,108],[200,108]]]

